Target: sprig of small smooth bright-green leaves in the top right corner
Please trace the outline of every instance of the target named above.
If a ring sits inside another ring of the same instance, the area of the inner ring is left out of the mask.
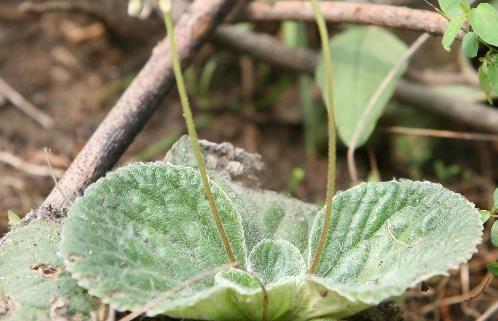
[[[480,47],[486,53],[479,58],[479,81],[490,99],[494,90],[498,93],[498,11],[489,3],[481,3],[471,8],[468,0],[439,0],[441,13],[449,20],[443,36],[443,47],[451,50],[451,45],[460,32],[465,35],[462,51],[469,58],[478,55]],[[469,26],[465,22],[469,22]]]

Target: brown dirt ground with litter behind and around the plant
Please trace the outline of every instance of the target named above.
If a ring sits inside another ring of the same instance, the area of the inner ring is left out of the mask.
[[[0,151],[31,164],[46,166],[43,148],[48,147],[52,165],[61,170],[67,168],[164,35],[157,19],[128,18],[123,2],[87,2],[102,5],[102,11],[113,12],[113,18],[102,20],[81,12],[26,14],[17,10],[19,0],[0,3],[0,77],[56,122],[54,128],[44,129],[10,103],[0,104]],[[277,29],[273,25],[265,28]],[[410,40],[415,35],[404,36]],[[454,71],[455,63],[440,47],[436,39],[424,50],[437,59],[444,57],[443,61],[418,55],[414,66],[439,64],[446,71]],[[201,68],[213,52],[212,47],[206,46],[197,57],[194,70]],[[306,153],[302,112],[297,90],[294,90],[296,75],[289,76],[287,72],[272,70],[247,57],[224,51],[217,51],[216,56],[221,63],[211,85],[214,103],[205,107],[202,101],[193,100],[196,116],[209,119],[200,129],[200,137],[215,142],[229,141],[260,153],[266,163],[263,187],[290,191],[301,199],[321,202],[326,177],[326,146],[322,141],[316,155]],[[261,70],[270,72],[266,83],[259,85],[254,79],[248,83],[247,77],[251,79]],[[254,101],[272,95],[271,88],[264,85],[283,77],[291,79],[287,90],[265,108],[256,108]],[[315,94],[318,101],[318,91]],[[236,101],[238,106],[231,108],[227,101]],[[426,113],[422,116],[429,119],[423,122],[433,128],[475,130]],[[380,127],[410,124],[417,117],[421,118],[418,111],[403,106],[402,112],[388,112]],[[324,119],[320,124],[323,127]],[[180,106],[172,94],[163,100],[120,164],[141,158],[151,142],[176,137],[183,132]],[[162,159],[165,152],[166,148],[158,148],[146,158]],[[358,166],[363,178],[371,172],[373,164],[377,164],[383,180],[407,177],[439,181],[462,193],[478,207],[489,208],[492,190],[498,184],[497,155],[496,143],[400,139],[378,131],[368,148],[358,151]],[[435,165],[438,161],[442,167]],[[294,184],[292,173],[296,168],[304,170],[305,176]],[[338,189],[348,188],[350,180],[344,147],[338,151],[337,173]],[[13,167],[0,162],[0,234],[7,229],[8,210],[24,215],[41,204],[53,185],[52,178],[46,174],[32,175],[23,166]],[[434,281],[427,292],[409,291],[403,300],[408,316],[413,320],[463,321],[474,320],[481,314],[496,300],[496,281],[485,294],[469,303],[457,300],[457,304],[447,304],[444,300],[460,295],[462,289],[465,292],[477,287],[484,280],[485,264],[498,257],[496,249],[491,250],[488,243],[451,278]],[[498,320],[498,316],[494,320]]]

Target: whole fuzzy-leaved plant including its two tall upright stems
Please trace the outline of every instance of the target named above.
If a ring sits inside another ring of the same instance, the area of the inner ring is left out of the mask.
[[[332,54],[312,3],[326,70],[325,208],[253,191],[216,172],[208,178],[170,2],[161,1],[191,143],[180,150],[195,166],[131,164],[88,187],[62,231],[57,220],[16,225],[0,243],[0,319],[101,320],[103,302],[150,316],[337,320],[470,258],[482,234],[479,211],[438,184],[362,183],[334,196]]]

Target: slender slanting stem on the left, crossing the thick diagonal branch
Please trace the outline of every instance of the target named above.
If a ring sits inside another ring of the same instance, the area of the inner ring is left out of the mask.
[[[213,198],[211,186],[209,185],[209,180],[206,174],[206,167],[204,165],[204,161],[202,160],[201,150],[199,148],[199,143],[197,141],[197,131],[195,130],[195,124],[192,116],[192,111],[190,109],[187,90],[185,88],[185,81],[182,75],[182,68],[180,66],[180,59],[178,57],[178,52],[176,49],[173,18],[171,17],[171,11],[164,12],[163,16],[164,16],[164,22],[166,23],[168,38],[170,40],[171,57],[173,58],[173,69],[175,72],[176,83],[178,86],[178,93],[180,95],[180,101],[182,104],[183,116],[185,117],[185,121],[187,123],[187,131],[190,137],[190,141],[192,143],[192,149],[194,150],[195,158],[197,160],[197,166],[199,167],[202,183],[204,184],[204,192],[206,193],[206,198],[208,199],[209,206],[211,207],[211,212],[213,214],[214,221],[216,223],[216,228],[218,229],[218,234],[220,235],[223,247],[225,248],[228,258],[230,259],[230,263],[236,264],[237,261],[235,259],[235,256],[233,255],[232,248],[230,247],[230,243],[225,233],[225,229],[221,222],[221,217],[218,212],[218,208],[216,207],[216,203]]]

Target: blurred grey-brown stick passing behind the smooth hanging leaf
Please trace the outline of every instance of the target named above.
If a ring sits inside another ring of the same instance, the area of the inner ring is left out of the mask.
[[[223,32],[215,34],[214,43],[280,68],[309,74],[314,73],[318,61],[313,50],[290,48],[266,34],[237,30],[229,26],[223,26]],[[275,59],[275,54],[285,59]],[[395,96],[410,106],[498,134],[498,111],[486,105],[455,99],[428,86],[406,80],[398,81]]]

